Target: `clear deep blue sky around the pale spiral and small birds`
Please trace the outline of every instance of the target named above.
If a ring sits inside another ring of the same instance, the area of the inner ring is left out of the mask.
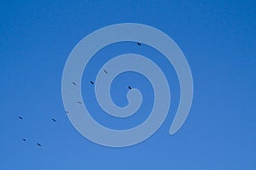
[[[0,169],[255,169],[255,8],[254,1],[2,2]],[[61,75],[82,38],[125,22],[154,26],[177,42],[189,61],[195,94],[188,119],[170,136],[179,98],[172,65],[132,42],[102,49],[84,71],[82,89],[97,122],[117,129],[136,126],[153,103],[147,79],[126,72],[113,82],[113,100],[126,105],[131,84],[143,93],[141,110],[124,122],[102,114],[89,83],[107,59],[102,55],[148,56],[166,73],[172,92],[160,129],[141,144],[117,149],[94,144],[75,130],[62,104]]]

